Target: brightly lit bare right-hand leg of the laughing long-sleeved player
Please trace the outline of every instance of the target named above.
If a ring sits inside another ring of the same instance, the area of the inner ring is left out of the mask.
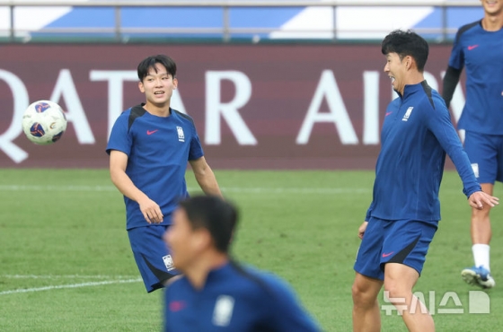
[[[402,315],[410,332],[435,331],[435,323],[425,304],[412,293],[419,273],[400,263],[388,263],[384,268],[384,295]]]

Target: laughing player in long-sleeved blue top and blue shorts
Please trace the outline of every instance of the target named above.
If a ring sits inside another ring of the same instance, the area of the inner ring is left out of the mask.
[[[386,296],[410,331],[435,324],[412,294],[440,220],[438,190],[446,153],[474,208],[498,204],[481,191],[446,103],[424,80],[428,43],[412,31],[393,31],[382,43],[384,72],[399,98],[386,109],[381,152],[375,166],[373,201],[359,227],[362,239],[353,284],[354,331],[380,331],[377,295]]]

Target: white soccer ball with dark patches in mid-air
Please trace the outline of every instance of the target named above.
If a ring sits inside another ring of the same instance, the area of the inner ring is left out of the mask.
[[[38,100],[22,115],[22,131],[34,144],[53,144],[66,130],[66,117],[56,102]]]

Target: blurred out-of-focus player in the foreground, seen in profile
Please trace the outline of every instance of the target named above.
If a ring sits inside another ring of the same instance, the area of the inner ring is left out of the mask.
[[[192,197],[175,210],[164,240],[183,275],[165,289],[164,331],[320,331],[286,283],[229,257],[237,217],[219,197]]]

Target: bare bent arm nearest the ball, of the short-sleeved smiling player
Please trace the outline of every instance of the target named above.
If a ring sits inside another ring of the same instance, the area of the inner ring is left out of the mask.
[[[135,186],[126,174],[128,155],[117,150],[110,151],[110,179],[122,195],[136,201],[147,223],[162,223],[161,208]]]

